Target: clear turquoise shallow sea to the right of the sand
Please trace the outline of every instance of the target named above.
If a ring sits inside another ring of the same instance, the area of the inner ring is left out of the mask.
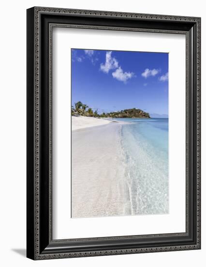
[[[125,160],[125,181],[131,215],[168,213],[168,119],[129,119],[118,121]]]

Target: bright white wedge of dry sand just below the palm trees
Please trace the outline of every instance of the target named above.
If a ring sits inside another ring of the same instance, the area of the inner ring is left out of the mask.
[[[72,131],[110,123],[109,120],[94,117],[72,116]]]

